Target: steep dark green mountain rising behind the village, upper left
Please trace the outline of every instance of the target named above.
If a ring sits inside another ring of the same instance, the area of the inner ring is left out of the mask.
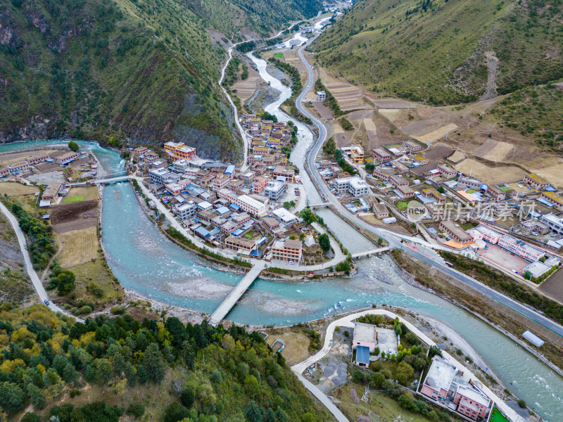
[[[170,139],[236,159],[217,86],[223,41],[271,35],[318,0],[6,0],[0,4],[0,142]]]

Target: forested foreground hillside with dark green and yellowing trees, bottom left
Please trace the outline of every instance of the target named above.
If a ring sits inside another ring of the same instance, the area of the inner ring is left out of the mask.
[[[0,420],[329,421],[258,333],[0,306]]]

